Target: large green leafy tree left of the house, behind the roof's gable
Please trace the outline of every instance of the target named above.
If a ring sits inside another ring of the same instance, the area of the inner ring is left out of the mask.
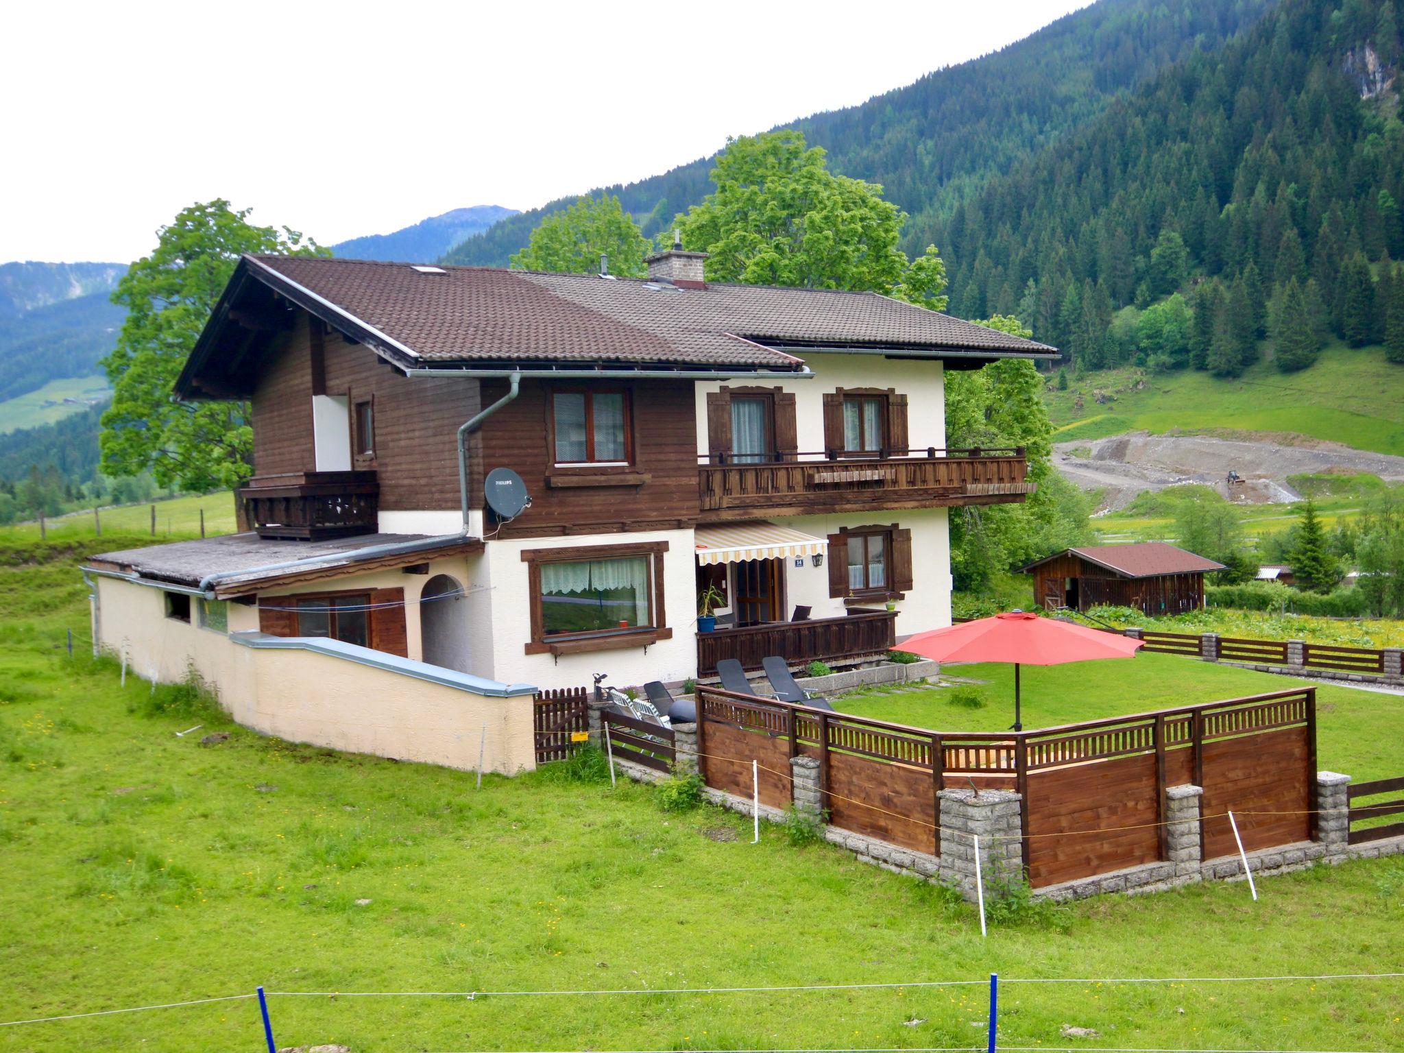
[[[250,209],[195,204],[157,233],[112,293],[126,307],[117,347],[102,359],[112,404],[102,414],[102,472],[150,469],[161,486],[233,487],[249,479],[253,428],[241,402],[183,403],[171,395],[195,338],[241,253],[330,256],[296,230],[254,226]]]

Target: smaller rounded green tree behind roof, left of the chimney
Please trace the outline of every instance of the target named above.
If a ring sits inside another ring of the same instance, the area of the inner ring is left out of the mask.
[[[552,212],[531,232],[531,241],[512,256],[512,267],[524,271],[597,274],[600,257],[608,257],[609,272],[642,278],[649,239],[639,230],[619,198],[600,194],[580,198],[560,212]]]

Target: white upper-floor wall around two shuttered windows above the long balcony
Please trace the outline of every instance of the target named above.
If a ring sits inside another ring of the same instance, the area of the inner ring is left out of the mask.
[[[715,380],[696,385],[698,452],[708,452],[706,396],[723,383],[731,388],[755,383],[762,388],[783,388],[795,392],[795,424],[802,452],[824,449],[824,392],[835,388],[894,388],[907,396],[907,444],[913,449],[946,445],[946,389],[942,364],[918,362],[882,355],[803,354],[804,364],[814,371],[809,380]]]

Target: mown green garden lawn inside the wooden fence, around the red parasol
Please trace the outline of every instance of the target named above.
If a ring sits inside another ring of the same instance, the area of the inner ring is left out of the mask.
[[[986,705],[951,702],[951,688],[868,689],[835,699],[835,708],[876,720],[936,731],[1002,731],[1014,723],[1014,667],[943,665],[952,677],[983,681]],[[1318,762],[1356,781],[1404,775],[1404,696],[1321,681],[1254,673],[1178,654],[1021,667],[1024,726],[1029,730],[1172,709],[1271,691],[1317,688]]]

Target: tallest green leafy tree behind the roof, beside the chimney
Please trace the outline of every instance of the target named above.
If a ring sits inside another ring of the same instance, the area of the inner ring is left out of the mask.
[[[712,181],[677,219],[684,246],[708,253],[712,281],[892,292],[908,278],[906,213],[876,183],[828,171],[796,131],[729,139]],[[914,286],[929,288],[929,270],[910,275]]]

